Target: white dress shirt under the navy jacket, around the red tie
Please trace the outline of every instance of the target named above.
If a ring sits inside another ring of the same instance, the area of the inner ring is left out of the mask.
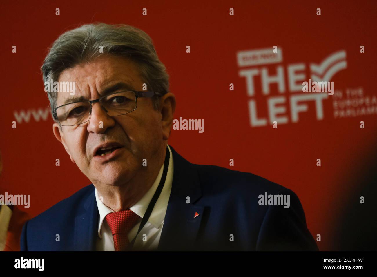
[[[140,233],[136,237],[132,250],[156,250],[158,247],[173,182],[173,155],[169,145],[167,146],[170,152],[170,159],[164,187],[162,188],[161,194],[158,197],[158,200],[155,204],[155,207],[153,208],[152,213],[150,214],[147,223],[144,225],[143,229],[140,230]],[[158,184],[162,177],[163,170],[164,165],[162,165],[152,187],[135,205],[129,208],[131,211],[133,211],[140,217],[138,223],[136,223],[136,225],[130,230],[130,232],[127,235],[130,242],[133,240],[133,238],[136,236],[136,233],[139,230],[141,220],[144,217],[150,200],[152,199],[153,195],[157,190]],[[98,196],[97,188],[95,189],[95,198],[97,200],[97,207],[100,213],[96,249],[97,251],[114,251],[113,235],[111,233],[109,225],[104,219],[107,214],[114,213],[115,211],[103,204],[103,202],[100,200]],[[146,238],[145,236],[143,236],[144,234],[146,234]]]

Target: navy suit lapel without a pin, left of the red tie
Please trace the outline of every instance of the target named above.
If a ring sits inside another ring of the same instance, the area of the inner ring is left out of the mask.
[[[93,191],[89,194],[81,209],[81,214],[75,218],[74,250],[94,251],[95,238],[98,236],[98,208],[95,200],[94,186]]]

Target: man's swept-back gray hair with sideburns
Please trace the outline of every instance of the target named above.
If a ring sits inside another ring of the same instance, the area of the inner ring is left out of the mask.
[[[100,49],[103,49],[103,53]],[[169,92],[169,75],[157,56],[152,39],[146,32],[126,24],[87,24],[60,35],[41,67],[43,82],[50,82],[51,79],[58,81],[65,69],[109,54],[134,61],[148,91],[160,92],[162,95]],[[47,95],[54,118],[57,92],[50,89]],[[159,97],[153,96],[152,102],[154,109],[158,110]]]

